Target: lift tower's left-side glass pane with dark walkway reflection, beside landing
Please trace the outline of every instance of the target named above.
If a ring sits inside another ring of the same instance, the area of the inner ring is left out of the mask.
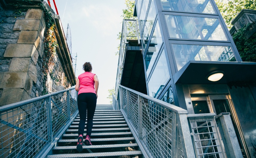
[[[160,27],[158,21],[156,22],[156,27],[154,29],[153,35],[151,37],[151,41],[147,50],[147,54],[145,57],[145,64],[146,64],[146,71],[147,71],[147,77],[149,75],[149,72],[156,60],[157,54],[159,49],[162,45],[162,36],[160,33]]]

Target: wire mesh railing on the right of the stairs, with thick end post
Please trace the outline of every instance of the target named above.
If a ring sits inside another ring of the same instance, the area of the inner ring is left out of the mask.
[[[113,103],[120,103],[144,157],[195,157],[187,110],[120,85],[117,96]]]

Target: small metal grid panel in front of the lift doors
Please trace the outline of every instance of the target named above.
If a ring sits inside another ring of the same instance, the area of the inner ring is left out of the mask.
[[[222,157],[221,146],[215,130],[214,118],[190,118],[194,144],[198,157]]]

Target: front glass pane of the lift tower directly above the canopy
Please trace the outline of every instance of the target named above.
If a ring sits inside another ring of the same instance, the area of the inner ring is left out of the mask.
[[[178,70],[189,60],[236,61],[230,46],[172,44]]]

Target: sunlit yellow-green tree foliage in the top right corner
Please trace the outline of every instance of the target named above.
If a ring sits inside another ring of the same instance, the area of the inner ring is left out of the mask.
[[[228,27],[231,29],[232,20],[241,12],[242,9],[256,10],[255,0],[215,0],[221,15]]]

